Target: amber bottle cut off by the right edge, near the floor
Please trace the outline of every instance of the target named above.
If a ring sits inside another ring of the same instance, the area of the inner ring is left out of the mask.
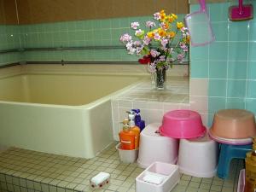
[[[246,157],[246,181],[244,192],[256,190],[256,137],[253,137],[253,151]]]

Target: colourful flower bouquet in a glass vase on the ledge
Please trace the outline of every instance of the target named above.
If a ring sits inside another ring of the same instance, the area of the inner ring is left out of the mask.
[[[173,62],[183,62],[189,51],[189,32],[177,15],[166,15],[164,10],[154,14],[154,21],[146,21],[147,31],[140,29],[138,22],[131,22],[135,30],[133,40],[128,33],[120,37],[128,54],[143,55],[138,61],[148,65],[150,73],[156,73],[156,87],[164,89],[166,70]]]

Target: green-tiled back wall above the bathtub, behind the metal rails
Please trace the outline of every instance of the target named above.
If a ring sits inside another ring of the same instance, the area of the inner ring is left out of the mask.
[[[184,15],[178,16],[183,20]],[[0,45],[0,49],[11,48],[11,45],[13,48],[121,45],[119,37],[125,32],[130,34],[134,32],[130,27],[132,21],[139,21],[143,25],[146,20],[152,19],[153,16],[143,16],[11,26],[16,33],[11,32],[8,35],[15,34],[15,38],[1,38],[4,46]],[[20,32],[20,39],[17,32]],[[138,59],[137,55],[128,55],[125,49],[27,51],[22,55],[25,61],[137,61]]]

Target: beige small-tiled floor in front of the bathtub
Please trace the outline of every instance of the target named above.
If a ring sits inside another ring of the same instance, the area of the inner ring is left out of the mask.
[[[115,144],[91,160],[9,148],[0,154],[0,191],[1,188],[3,191],[19,192],[92,191],[89,186],[90,178],[98,172],[109,172],[110,184],[96,191],[134,192],[135,178],[143,169],[137,164],[120,162],[119,154],[114,148]],[[242,166],[242,160],[233,160],[230,178],[226,180],[182,174],[180,183],[172,191],[236,191],[237,178]]]

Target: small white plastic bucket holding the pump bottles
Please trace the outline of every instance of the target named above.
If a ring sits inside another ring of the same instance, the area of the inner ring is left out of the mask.
[[[120,147],[120,143],[115,146],[119,151],[119,158],[124,163],[133,163],[137,160],[138,149],[123,150]]]

